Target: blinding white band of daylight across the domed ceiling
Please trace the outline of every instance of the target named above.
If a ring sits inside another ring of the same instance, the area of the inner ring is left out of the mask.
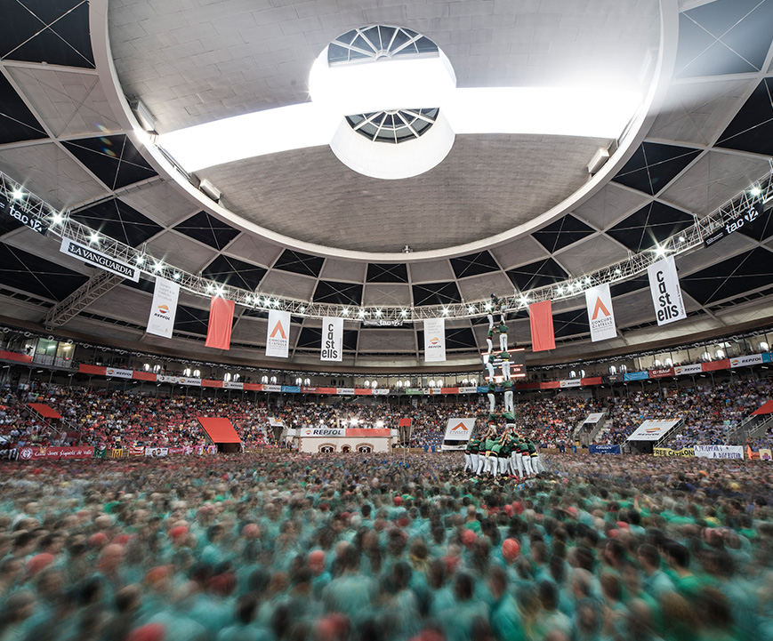
[[[641,101],[639,93],[603,87],[456,89],[453,72],[449,74],[443,59],[327,68],[326,56],[320,56],[310,74],[311,102],[164,133],[157,143],[185,170],[196,172],[244,158],[327,145],[342,116],[419,107],[439,107],[456,134],[616,138]]]

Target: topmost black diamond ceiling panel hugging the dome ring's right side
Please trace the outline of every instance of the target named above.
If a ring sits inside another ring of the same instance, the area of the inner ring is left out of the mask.
[[[612,180],[654,196],[698,154],[699,149],[642,142]]]

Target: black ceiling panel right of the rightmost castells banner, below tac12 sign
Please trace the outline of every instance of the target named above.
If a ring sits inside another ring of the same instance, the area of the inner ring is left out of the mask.
[[[680,284],[702,305],[750,292],[773,283],[773,253],[756,247],[695,274],[681,276]]]

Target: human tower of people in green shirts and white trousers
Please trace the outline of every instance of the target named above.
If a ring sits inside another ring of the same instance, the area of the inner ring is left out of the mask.
[[[495,327],[494,317],[499,314],[499,325]],[[544,471],[535,444],[527,437],[521,436],[515,423],[515,407],[512,402],[512,381],[510,372],[510,353],[507,351],[507,300],[491,294],[488,309],[488,346],[484,363],[488,379],[488,421],[482,433],[473,435],[464,452],[464,469],[480,476],[517,476],[531,477]],[[499,354],[494,352],[495,334],[499,337]],[[504,403],[500,416],[495,413],[496,382],[495,364],[497,357],[501,361]],[[485,374],[484,374],[485,375]],[[503,422],[504,427],[497,430],[497,423]]]

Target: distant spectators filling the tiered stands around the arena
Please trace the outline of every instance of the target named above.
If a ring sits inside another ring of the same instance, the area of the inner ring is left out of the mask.
[[[683,418],[685,428],[668,444],[680,448],[726,443],[740,421],[770,397],[769,380],[695,389],[632,389],[628,396],[601,399],[559,393],[519,401],[515,417],[519,434],[543,448],[571,445],[576,426],[589,413],[608,416],[605,431],[595,437],[597,444],[624,443],[646,419]],[[501,400],[497,398],[497,403]],[[34,402],[51,405],[64,417],[60,431],[53,432],[49,421],[28,410],[27,404]],[[474,417],[483,425],[488,409],[485,395],[470,395],[457,403],[422,397],[416,405],[391,405],[382,399],[333,398],[327,403],[286,400],[269,406],[263,397],[248,395],[166,397],[38,384],[0,394],[0,448],[13,443],[64,445],[78,440],[101,447],[201,445],[205,435],[196,417],[224,416],[232,421],[246,448],[281,445],[271,429],[278,423],[291,429],[319,425],[396,429],[400,419],[408,418],[412,421],[410,445],[433,451],[442,444],[449,419]],[[502,405],[496,405],[499,416],[502,411]],[[769,434],[753,445],[771,444],[773,435]]]

